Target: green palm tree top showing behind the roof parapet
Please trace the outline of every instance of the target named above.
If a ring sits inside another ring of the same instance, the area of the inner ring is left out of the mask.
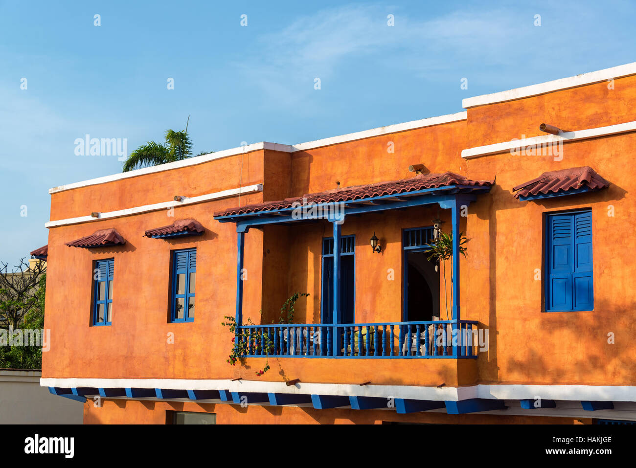
[[[188,117],[188,122],[190,117]],[[140,167],[156,166],[158,164],[181,161],[192,155],[192,142],[188,137],[188,123],[181,132],[165,131],[165,144],[149,141],[135,149],[123,165],[123,172],[139,169]]]

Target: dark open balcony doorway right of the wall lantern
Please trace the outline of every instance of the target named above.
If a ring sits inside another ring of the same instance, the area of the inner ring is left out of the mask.
[[[425,247],[432,240],[432,228],[404,230],[403,320],[420,322],[446,320],[439,317],[439,268],[429,260]]]

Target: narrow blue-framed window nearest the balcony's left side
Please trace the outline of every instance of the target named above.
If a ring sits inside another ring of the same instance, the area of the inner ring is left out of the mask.
[[[197,249],[172,252],[170,322],[193,322],[195,319],[196,274]]]

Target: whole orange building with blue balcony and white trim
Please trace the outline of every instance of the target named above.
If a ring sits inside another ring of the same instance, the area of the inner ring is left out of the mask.
[[[41,385],[85,423],[636,421],[636,63],[462,104],[51,189]]]

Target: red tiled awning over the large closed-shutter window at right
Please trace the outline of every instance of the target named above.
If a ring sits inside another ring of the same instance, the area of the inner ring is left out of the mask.
[[[513,188],[513,191],[516,191],[515,198],[531,200],[532,198],[573,195],[607,187],[609,187],[608,181],[599,176],[590,166],[583,166],[544,172],[532,181],[519,184]]]

